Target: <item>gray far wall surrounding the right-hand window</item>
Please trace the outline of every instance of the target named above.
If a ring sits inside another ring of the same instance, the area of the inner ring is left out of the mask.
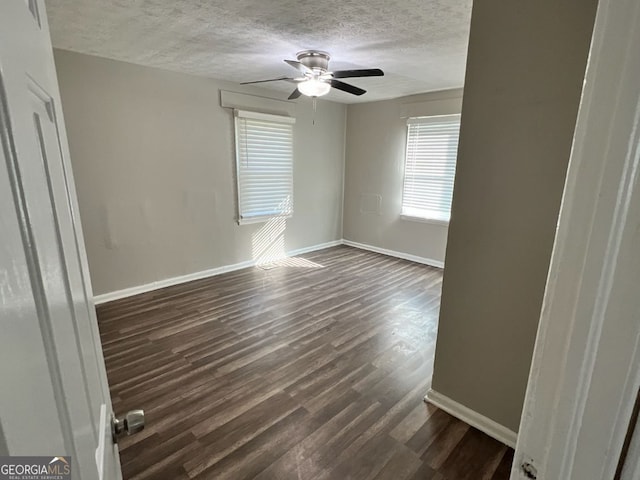
[[[462,91],[450,90],[349,105],[345,239],[444,262],[447,226],[400,218],[406,117],[460,113],[461,104]]]

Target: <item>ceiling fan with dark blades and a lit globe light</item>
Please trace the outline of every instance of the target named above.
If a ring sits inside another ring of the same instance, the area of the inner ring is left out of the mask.
[[[321,97],[331,90],[331,87],[353,95],[362,95],[366,90],[350,85],[338,80],[339,78],[353,77],[381,77],[384,72],[379,68],[366,68],[360,70],[338,70],[336,72],[329,71],[329,59],[331,58],[327,52],[320,50],[305,50],[298,52],[296,60],[285,60],[286,63],[298,70],[302,76],[298,78],[280,77],[269,80],[257,80],[255,82],[242,82],[242,85],[250,83],[277,82],[285,80],[287,82],[296,83],[296,89],[289,95],[289,100],[298,98],[300,95],[308,97]]]

